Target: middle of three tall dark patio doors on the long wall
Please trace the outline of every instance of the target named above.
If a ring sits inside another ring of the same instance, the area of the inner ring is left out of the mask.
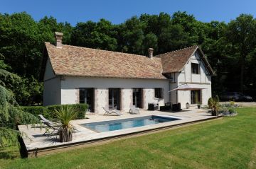
[[[109,109],[120,110],[120,88],[109,88]]]

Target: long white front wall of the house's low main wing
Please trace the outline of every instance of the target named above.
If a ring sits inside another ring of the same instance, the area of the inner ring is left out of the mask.
[[[129,111],[132,105],[132,88],[143,88],[144,109],[148,103],[164,103],[169,101],[169,81],[134,78],[90,78],[66,76],[61,81],[61,104],[77,103],[78,88],[95,88],[95,112],[104,112],[102,107],[108,106],[108,88],[122,88],[122,110]],[[154,98],[154,88],[163,88],[164,98]]]

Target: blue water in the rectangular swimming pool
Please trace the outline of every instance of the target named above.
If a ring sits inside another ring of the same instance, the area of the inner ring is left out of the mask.
[[[174,117],[146,116],[125,120],[112,120],[107,122],[92,122],[81,124],[83,127],[94,130],[95,132],[110,132],[119,129],[128,129],[133,127],[142,127],[150,124],[158,124],[161,122],[171,122],[179,120]]]

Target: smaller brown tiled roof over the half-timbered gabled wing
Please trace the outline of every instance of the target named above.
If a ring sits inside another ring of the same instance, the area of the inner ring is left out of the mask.
[[[182,71],[183,67],[186,65],[186,62],[188,62],[188,59],[196,51],[198,51],[201,54],[201,59],[204,62],[206,69],[208,69],[211,75],[214,75],[215,73],[213,69],[210,67],[210,64],[207,58],[204,56],[203,51],[198,45],[186,47],[183,49],[178,49],[173,52],[159,54],[159,55],[156,55],[155,57],[161,58],[163,74],[173,73],[173,72]]]

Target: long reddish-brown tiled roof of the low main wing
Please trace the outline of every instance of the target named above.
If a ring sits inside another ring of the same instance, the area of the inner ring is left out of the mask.
[[[48,42],[46,50],[56,75],[166,79],[161,58],[70,45],[57,48]]]

